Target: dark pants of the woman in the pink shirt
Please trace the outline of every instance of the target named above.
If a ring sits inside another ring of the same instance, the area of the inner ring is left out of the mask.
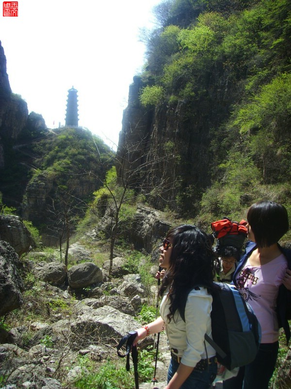
[[[255,360],[243,366],[236,377],[224,381],[223,389],[268,389],[278,349],[279,342],[262,343]]]

